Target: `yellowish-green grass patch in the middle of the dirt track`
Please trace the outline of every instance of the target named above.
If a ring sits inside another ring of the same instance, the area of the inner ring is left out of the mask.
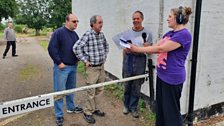
[[[19,80],[27,81],[34,78],[40,71],[37,66],[28,64],[19,71]]]

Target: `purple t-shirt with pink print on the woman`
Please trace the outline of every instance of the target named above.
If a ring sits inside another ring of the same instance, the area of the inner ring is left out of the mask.
[[[160,40],[159,44],[167,40],[178,42],[181,47],[167,52],[159,53],[157,57],[157,76],[171,85],[182,84],[186,79],[185,61],[191,46],[191,34],[184,28],[180,31],[169,31]]]

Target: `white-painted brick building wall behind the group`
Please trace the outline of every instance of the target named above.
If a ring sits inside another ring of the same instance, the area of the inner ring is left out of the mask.
[[[145,15],[143,25],[152,31],[153,41],[156,42],[161,32],[164,34],[170,30],[166,23],[170,9],[180,5],[193,8],[190,23],[187,25],[193,35],[195,0],[73,0],[72,12],[80,20],[77,29],[80,36],[90,29],[89,19],[92,15],[99,14],[103,17],[103,32],[110,44],[110,53],[105,67],[108,72],[121,78],[122,50],[115,46],[111,38],[131,28],[132,13],[141,10]],[[221,0],[202,2],[195,110],[224,101],[223,6],[224,1]],[[186,62],[188,75],[181,98],[182,113],[187,113],[188,109],[191,53]],[[147,95],[149,94],[148,89],[148,82],[146,82],[142,87],[142,92]]]

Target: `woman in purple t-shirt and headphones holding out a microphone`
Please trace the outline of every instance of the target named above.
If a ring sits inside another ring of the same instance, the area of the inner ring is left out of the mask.
[[[167,22],[172,28],[153,46],[137,47],[131,51],[156,53],[156,126],[182,126],[180,97],[186,79],[185,61],[191,46],[191,34],[185,28],[192,13],[190,7],[171,9]]]

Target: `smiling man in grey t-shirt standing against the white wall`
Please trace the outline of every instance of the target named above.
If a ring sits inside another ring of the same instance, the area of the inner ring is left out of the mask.
[[[126,39],[132,41],[132,43],[135,41],[141,41],[141,43],[137,43],[138,46],[150,46],[152,44],[152,33],[150,30],[143,27],[143,20],[143,13],[139,10],[135,11],[132,15],[132,28],[118,35],[115,35],[113,37],[113,41],[119,43],[120,37],[125,38],[125,35],[128,35],[128,37],[130,38]],[[143,34],[145,34],[145,40],[143,39]],[[128,48],[124,48],[122,76],[126,78],[145,74],[146,59],[147,56],[144,53],[134,53],[131,52]],[[143,83],[144,78],[125,82],[123,109],[123,113],[125,115],[131,112],[134,118],[139,117],[138,101],[140,98],[141,85]]]

